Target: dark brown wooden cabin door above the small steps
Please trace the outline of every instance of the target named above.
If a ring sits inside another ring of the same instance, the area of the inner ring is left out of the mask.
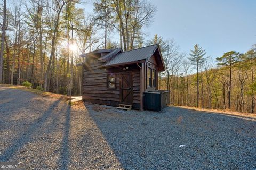
[[[132,88],[132,73],[120,74],[120,98],[121,104],[132,105],[133,103],[133,88]]]

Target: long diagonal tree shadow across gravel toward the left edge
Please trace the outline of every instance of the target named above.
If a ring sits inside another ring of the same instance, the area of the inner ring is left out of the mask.
[[[45,111],[41,117],[38,118],[36,122],[31,124],[28,128],[27,131],[22,133],[17,139],[14,139],[14,142],[12,145],[7,148],[2,155],[0,155],[0,160],[2,161],[7,161],[9,160],[15,152],[17,152],[20,148],[22,148],[26,143],[28,143],[32,135],[35,131],[37,131],[43,123],[47,120],[47,118],[51,115],[53,109],[55,106],[57,106],[60,103],[61,99],[56,100],[48,109]]]

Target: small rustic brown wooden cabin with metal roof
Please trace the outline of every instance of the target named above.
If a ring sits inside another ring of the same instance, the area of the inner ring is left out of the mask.
[[[158,72],[164,63],[158,45],[124,52],[99,49],[82,54],[83,101],[143,109],[143,92],[158,90]]]

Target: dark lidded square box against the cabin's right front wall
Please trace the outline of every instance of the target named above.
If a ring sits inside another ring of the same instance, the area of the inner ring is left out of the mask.
[[[155,90],[143,93],[143,105],[145,110],[162,111],[170,104],[170,91]]]

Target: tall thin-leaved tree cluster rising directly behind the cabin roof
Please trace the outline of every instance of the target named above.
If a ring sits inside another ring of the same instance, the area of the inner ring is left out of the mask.
[[[111,0],[101,3],[109,3],[101,6],[110,8],[107,24],[120,33],[120,46],[124,50],[133,48],[135,39],[141,38],[141,29],[150,24],[156,12],[153,4],[141,0]]]

